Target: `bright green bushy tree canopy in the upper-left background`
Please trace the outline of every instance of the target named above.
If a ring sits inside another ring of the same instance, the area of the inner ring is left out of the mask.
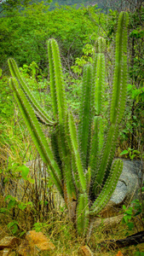
[[[6,68],[6,60],[14,57],[22,67],[35,61],[45,72],[48,61],[46,41],[57,39],[63,64],[70,69],[74,58],[80,56],[84,44],[97,37],[99,27],[91,19],[91,13],[99,22],[99,11],[93,8],[75,9],[61,7],[49,11],[46,3],[33,3],[26,9],[14,10],[12,15],[1,17],[0,66]],[[68,52],[68,55],[67,55]]]

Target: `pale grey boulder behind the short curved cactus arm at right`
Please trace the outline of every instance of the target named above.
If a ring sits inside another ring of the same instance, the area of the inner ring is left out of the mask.
[[[142,162],[140,160],[123,160],[123,162],[123,172],[110,200],[117,205],[138,198],[142,178]]]

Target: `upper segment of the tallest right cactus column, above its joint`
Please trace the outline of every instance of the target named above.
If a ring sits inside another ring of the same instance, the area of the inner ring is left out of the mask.
[[[121,12],[116,34],[115,69],[112,86],[112,102],[110,120],[112,124],[120,123],[124,114],[127,83],[127,26],[129,16]]]

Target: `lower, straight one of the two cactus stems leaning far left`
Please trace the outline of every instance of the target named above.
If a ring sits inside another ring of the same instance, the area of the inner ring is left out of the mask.
[[[42,128],[37,121],[36,115],[31,108],[30,102],[27,100],[25,93],[19,88],[16,79],[9,79],[9,85],[14,92],[15,100],[18,103],[21,115],[26,122],[32,140],[37,147],[37,151],[43,158],[43,161],[46,164],[49,164],[51,177],[53,178],[57,189],[60,191],[60,194],[63,195],[60,169],[55,162],[54,156],[49,148],[49,144],[43,134]]]

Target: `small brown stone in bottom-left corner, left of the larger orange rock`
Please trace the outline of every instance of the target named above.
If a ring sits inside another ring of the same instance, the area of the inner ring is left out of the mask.
[[[5,247],[16,247],[20,244],[20,239],[14,237],[14,236],[5,236],[0,241],[0,250],[4,249]]]

